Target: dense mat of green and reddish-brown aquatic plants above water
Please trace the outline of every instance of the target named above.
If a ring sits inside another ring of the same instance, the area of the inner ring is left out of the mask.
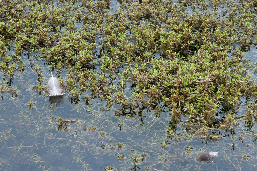
[[[1,92],[16,92],[4,80],[23,72],[29,57],[39,92],[47,78],[33,60],[68,71],[61,81],[70,97],[98,97],[107,108],[164,102],[173,115],[214,119],[220,105],[256,94],[242,63],[256,45],[256,0],[115,3],[1,0]]]

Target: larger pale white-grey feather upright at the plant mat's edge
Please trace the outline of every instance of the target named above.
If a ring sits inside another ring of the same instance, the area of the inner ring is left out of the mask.
[[[66,88],[60,86],[59,80],[53,77],[53,73],[51,74],[52,74],[52,77],[49,78],[47,86],[45,87],[45,92],[49,96],[54,96],[54,97],[65,94],[67,92]]]

